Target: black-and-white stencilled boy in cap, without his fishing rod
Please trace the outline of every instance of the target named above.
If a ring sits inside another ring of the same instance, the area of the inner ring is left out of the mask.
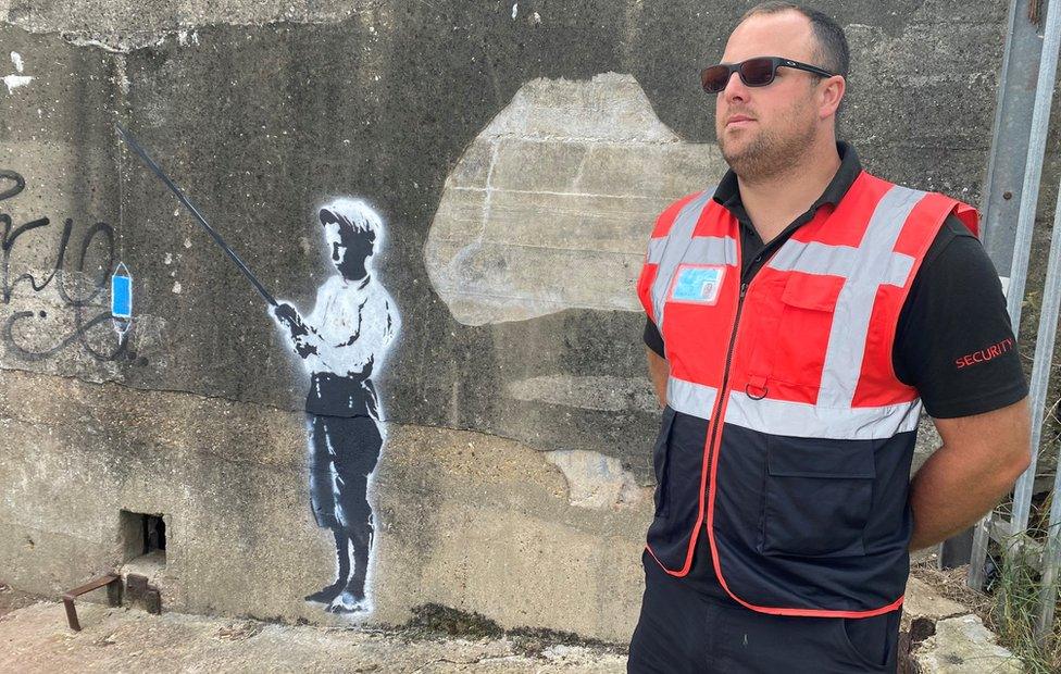
[[[384,237],[379,215],[363,201],[336,199],[317,219],[337,273],[317,288],[309,314],[286,302],[274,310],[310,375],[310,503],[317,526],[335,538],[338,562],[335,583],[305,599],[334,613],[369,612],[369,491],[386,436],[372,376],[398,334],[399,317],[372,273]]]

